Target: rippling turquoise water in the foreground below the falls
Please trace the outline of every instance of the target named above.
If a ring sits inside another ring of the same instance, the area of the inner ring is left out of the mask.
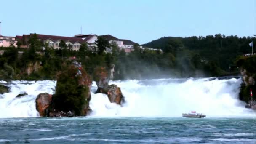
[[[255,144],[255,118],[72,117],[0,119],[0,143]]]

